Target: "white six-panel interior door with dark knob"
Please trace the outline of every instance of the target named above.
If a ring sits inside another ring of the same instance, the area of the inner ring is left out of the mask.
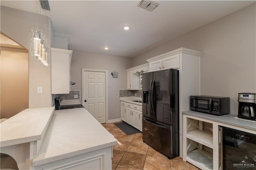
[[[83,105],[100,123],[106,123],[106,73],[84,71]]]

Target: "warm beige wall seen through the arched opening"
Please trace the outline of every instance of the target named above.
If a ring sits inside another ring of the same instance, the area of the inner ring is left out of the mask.
[[[28,50],[1,46],[0,64],[0,118],[8,119],[28,108]]]

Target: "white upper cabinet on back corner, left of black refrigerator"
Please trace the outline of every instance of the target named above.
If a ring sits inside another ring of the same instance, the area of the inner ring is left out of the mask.
[[[129,90],[140,90],[140,74],[148,72],[149,64],[143,64],[130,69],[127,71],[127,89]]]

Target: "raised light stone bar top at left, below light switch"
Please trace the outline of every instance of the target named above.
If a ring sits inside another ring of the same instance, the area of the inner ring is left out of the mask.
[[[11,146],[42,139],[54,107],[25,109],[0,124],[0,146]]]

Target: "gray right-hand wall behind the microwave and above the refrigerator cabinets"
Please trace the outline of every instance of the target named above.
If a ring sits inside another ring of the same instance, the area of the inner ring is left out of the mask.
[[[230,114],[238,93],[256,93],[255,3],[134,57],[133,66],[180,47],[203,52],[201,95],[230,97]]]

